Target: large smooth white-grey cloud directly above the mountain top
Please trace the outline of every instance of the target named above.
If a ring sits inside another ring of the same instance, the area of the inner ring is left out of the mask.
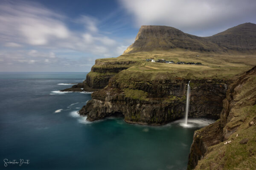
[[[256,22],[255,0],[120,0],[136,26],[165,25],[202,32]],[[224,30],[222,30],[224,31]]]

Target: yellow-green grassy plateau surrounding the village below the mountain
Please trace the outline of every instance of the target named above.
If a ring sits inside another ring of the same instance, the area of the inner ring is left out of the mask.
[[[199,57],[197,57],[199,55]],[[177,65],[146,62],[145,59],[166,59],[174,62],[201,62],[203,65]],[[187,79],[231,79],[256,65],[256,55],[214,54],[192,52],[182,49],[173,51],[152,51],[124,54],[116,58],[98,59],[100,62],[135,61],[131,65],[94,65],[93,67],[130,67],[128,74],[142,74],[157,78],[159,74],[169,74],[166,78]],[[135,76],[135,75],[134,75]]]

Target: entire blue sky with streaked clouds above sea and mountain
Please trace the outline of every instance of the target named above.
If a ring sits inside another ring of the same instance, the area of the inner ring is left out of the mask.
[[[88,72],[142,25],[201,37],[256,23],[256,0],[1,0],[0,71]]]

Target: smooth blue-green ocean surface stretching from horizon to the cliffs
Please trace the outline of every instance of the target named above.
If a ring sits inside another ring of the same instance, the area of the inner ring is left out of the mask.
[[[186,170],[194,131],[212,121],[189,119],[189,127],[183,120],[157,127],[120,117],[87,122],[77,111],[91,94],[59,92],[86,74],[0,72],[1,169]]]

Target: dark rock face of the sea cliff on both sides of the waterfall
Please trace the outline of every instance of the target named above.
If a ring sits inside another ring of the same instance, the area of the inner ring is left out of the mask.
[[[125,94],[122,83],[111,78],[108,88],[92,94],[92,100],[87,102],[80,114],[94,121],[122,113],[129,123],[146,125],[163,125],[184,116],[186,106],[186,87],[188,80],[152,81],[150,83],[134,82],[134,89],[146,96],[133,99]],[[222,109],[221,101],[225,97],[226,82],[217,80],[192,80],[191,103],[189,117],[208,117],[218,119]],[[171,97],[170,97],[171,96]]]

